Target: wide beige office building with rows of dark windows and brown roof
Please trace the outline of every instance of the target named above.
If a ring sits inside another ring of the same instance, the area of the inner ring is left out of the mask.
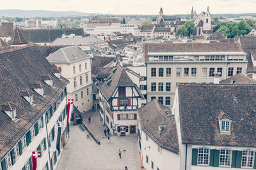
[[[177,43],[143,45],[147,66],[147,102],[172,106],[177,83],[213,83],[246,74],[248,61],[238,43]]]

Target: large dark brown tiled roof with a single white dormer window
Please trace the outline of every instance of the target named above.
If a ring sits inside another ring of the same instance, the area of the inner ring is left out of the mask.
[[[256,147],[256,85],[178,85],[182,143]],[[220,134],[221,112],[231,133]]]

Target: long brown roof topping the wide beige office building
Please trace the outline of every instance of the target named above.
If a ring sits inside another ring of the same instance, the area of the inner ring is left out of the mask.
[[[243,52],[239,43],[145,43],[145,61],[149,52]]]

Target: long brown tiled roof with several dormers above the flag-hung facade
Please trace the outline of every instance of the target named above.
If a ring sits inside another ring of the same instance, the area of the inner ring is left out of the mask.
[[[57,78],[51,73],[51,64],[35,45],[24,46],[0,52],[0,102],[10,103],[16,109],[17,120],[13,120],[0,111],[0,160],[26,134],[53,103],[68,80]],[[42,74],[49,74],[54,88],[42,80]],[[44,88],[44,96],[31,89],[30,82],[40,82]],[[33,94],[34,105],[31,106],[20,95],[20,89],[29,89]]]

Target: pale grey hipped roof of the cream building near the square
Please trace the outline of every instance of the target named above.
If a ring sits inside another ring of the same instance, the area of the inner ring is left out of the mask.
[[[79,46],[67,46],[60,48],[56,52],[46,57],[49,62],[59,64],[69,64],[88,58],[90,58],[90,55],[79,48]]]

